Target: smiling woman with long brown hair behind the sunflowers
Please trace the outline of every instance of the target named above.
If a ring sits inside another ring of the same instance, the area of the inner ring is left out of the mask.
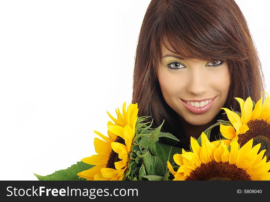
[[[247,22],[233,0],[152,0],[137,44],[133,103],[139,116],[189,150],[218,119],[240,111],[234,97],[260,99],[264,76]],[[210,140],[215,140],[215,127]]]

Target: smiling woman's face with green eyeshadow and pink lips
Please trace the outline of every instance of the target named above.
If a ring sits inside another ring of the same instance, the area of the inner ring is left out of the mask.
[[[189,124],[208,124],[225,106],[230,87],[226,62],[183,60],[162,44],[157,77],[167,104]]]

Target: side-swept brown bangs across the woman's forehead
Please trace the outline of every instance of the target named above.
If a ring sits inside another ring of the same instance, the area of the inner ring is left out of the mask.
[[[194,7],[185,5],[184,1],[181,6],[167,5],[167,12],[162,13],[156,32],[152,33],[158,36],[152,38],[158,39],[155,41],[158,50],[153,51],[159,53],[156,59],[160,60],[163,43],[169,51],[184,59],[244,61],[246,49],[235,34],[237,30],[231,25],[230,16],[225,12],[210,12],[213,5],[206,5],[207,1],[201,5],[198,2]]]

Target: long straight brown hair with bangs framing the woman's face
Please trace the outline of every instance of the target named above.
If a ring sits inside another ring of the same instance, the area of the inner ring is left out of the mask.
[[[226,108],[240,112],[234,97],[260,99],[264,90],[260,59],[233,0],[152,0],[137,43],[132,102],[138,103],[139,116],[152,116],[155,127],[165,120],[162,130],[177,133],[177,114],[164,101],[156,76],[161,43],[182,58],[226,61],[231,78]],[[227,120],[222,113],[215,118]]]

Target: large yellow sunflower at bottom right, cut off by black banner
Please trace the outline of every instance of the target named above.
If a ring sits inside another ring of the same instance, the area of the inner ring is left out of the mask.
[[[258,153],[260,143],[255,147],[253,139],[239,149],[237,140],[230,143],[230,151],[223,141],[218,146],[211,143],[202,133],[202,147],[191,137],[192,152],[182,149],[182,154],[173,156],[179,165],[174,171],[168,161],[173,180],[270,180],[270,162],[263,158],[265,150]]]

